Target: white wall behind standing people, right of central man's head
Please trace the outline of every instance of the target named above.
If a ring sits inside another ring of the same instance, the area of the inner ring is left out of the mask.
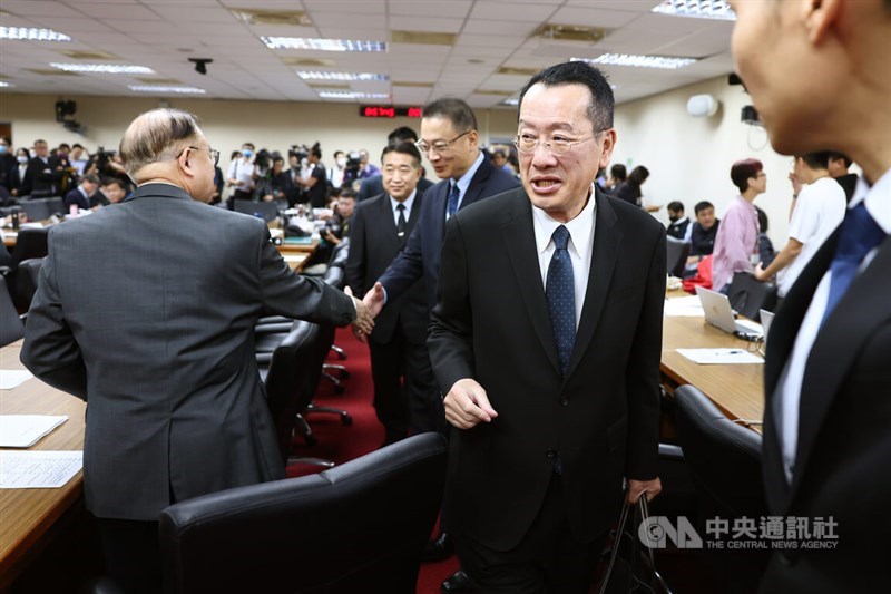
[[[708,118],[687,115],[687,99],[699,94],[721,101],[717,114]],[[723,216],[730,199],[738,194],[731,182],[733,163],[750,157],[761,160],[767,191],[755,204],[767,213],[768,235],[779,250],[785,244],[789,226],[792,157],[775,153],[763,128],[740,120],[741,109],[751,104],[742,87],[731,87],[727,78],[721,77],[620,105],[616,108],[618,142],[613,163],[624,163],[629,172],[633,166],[646,166],[645,201],[663,206],[681,201],[693,220],[693,206],[703,199]],[[654,214],[667,222],[665,208]]]

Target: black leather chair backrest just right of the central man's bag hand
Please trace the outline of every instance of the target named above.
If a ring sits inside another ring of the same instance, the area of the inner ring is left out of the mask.
[[[731,421],[693,386],[675,390],[675,423],[704,514],[766,516],[761,434]]]

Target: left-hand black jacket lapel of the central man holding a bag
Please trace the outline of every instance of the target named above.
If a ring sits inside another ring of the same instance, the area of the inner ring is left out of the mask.
[[[513,275],[520,288],[520,298],[529,313],[541,348],[560,373],[560,360],[557,357],[557,343],[548,315],[548,303],[545,300],[545,288],[541,285],[541,269],[538,265],[538,250],[536,247],[536,232],[532,226],[532,206],[529,197],[521,188],[516,191],[516,199],[505,211],[505,245],[508,246]]]

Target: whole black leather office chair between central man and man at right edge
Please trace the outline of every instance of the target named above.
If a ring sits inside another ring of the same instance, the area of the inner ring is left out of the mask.
[[[699,500],[701,535],[705,522],[719,517],[733,526],[735,518],[767,516],[761,464],[761,435],[730,420],[698,389],[675,390],[675,422],[684,459],[693,474]],[[704,548],[712,569],[714,592],[755,592],[770,551]]]

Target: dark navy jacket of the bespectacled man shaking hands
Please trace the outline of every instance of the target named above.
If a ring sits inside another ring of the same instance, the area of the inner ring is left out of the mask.
[[[418,225],[409,235],[405,249],[380,279],[386,289],[388,301],[399,298],[419,279],[423,279],[427,284],[428,305],[432,310],[437,304],[439,252],[446,231],[446,206],[449,202],[450,183],[451,179],[443,179],[424,193]],[[516,177],[496,168],[483,157],[461,201],[461,210],[479,199],[513,189],[519,185]]]

